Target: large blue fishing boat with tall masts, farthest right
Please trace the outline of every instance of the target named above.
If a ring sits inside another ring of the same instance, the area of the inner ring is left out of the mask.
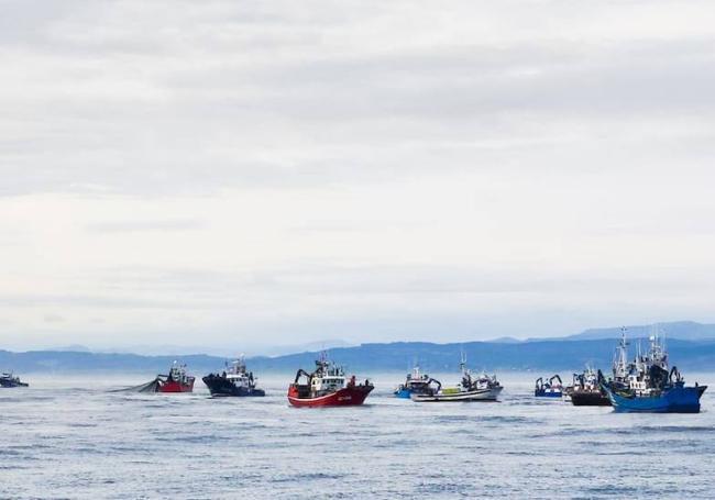
[[[650,348],[626,363],[625,329],[614,355],[613,378],[601,375],[601,387],[617,412],[698,413],[700,399],[707,386],[686,387],[680,371],[668,369],[668,353],[660,335],[650,336]],[[640,349],[639,349],[640,351]]]

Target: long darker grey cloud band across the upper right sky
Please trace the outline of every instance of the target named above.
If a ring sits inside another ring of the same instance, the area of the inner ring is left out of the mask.
[[[307,64],[287,69],[293,88],[276,97],[277,107],[294,118],[344,120],[406,118],[415,120],[493,120],[509,112],[558,118],[628,114],[712,114],[715,109],[713,41],[691,45],[692,52],[653,42],[637,55],[617,45],[593,53],[572,47],[559,62],[548,47],[532,57],[531,47],[513,47],[512,60],[494,49],[486,64],[475,51],[454,57]],[[550,59],[550,56],[553,56]],[[553,60],[556,59],[556,60]],[[408,64],[410,63],[410,64]],[[534,73],[529,73],[534,71]],[[583,114],[586,113],[586,114]]]

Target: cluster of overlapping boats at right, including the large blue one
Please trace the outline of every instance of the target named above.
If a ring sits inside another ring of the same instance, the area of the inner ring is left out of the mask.
[[[563,387],[561,377],[554,375],[544,381],[536,380],[534,396],[537,398],[563,398],[575,407],[612,405],[617,412],[697,413],[700,399],[707,386],[685,386],[675,366],[670,368],[662,337],[654,332],[648,352],[640,345],[629,362],[626,330],[616,347],[612,375],[606,378],[601,370],[591,367],[582,374],[573,374],[573,384]]]

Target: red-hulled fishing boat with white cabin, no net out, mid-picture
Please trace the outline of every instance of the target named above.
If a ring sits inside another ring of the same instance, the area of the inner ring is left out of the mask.
[[[299,384],[305,377],[306,384]],[[321,354],[316,369],[307,373],[299,369],[288,387],[288,402],[294,407],[354,407],[362,404],[375,387],[365,380],[355,381],[355,376],[345,377],[344,369],[328,360]]]

